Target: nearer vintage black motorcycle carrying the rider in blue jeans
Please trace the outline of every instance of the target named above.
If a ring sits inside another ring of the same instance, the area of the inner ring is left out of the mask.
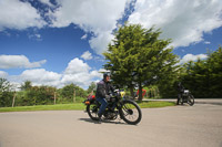
[[[123,96],[124,97],[124,96]],[[121,92],[115,90],[108,99],[108,107],[105,108],[102,119],[114,120],[120,115],[120,118],[131,125],[137,125],[142,118],[142,112],[139,105],[132,99],[124,99],[121,96]],[[98,120],[98,112],[100,103],[94,98],[88,98],[84,101],[87,105],[87,113],[92,120]]]

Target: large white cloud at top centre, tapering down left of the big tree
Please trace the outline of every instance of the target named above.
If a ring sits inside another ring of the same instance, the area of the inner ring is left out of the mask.
[[[90,40],[90,45],[101,54],[111,41],[117,20],[122,18],[129,2],[127,0],[58,0],[58,3],[61,7],[54,13],[50,13],[51,18],[54,18],[52,27],[68,27],[74,23],[85,32],[92,32],[94,35]]]

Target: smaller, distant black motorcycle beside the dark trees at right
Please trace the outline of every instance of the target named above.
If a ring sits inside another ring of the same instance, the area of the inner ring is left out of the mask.
[[[184,90],[181,94],[179,104],[183,105],[183,103],[188,103],[190,106],[194,105],[194,96],[191,94],[189,90]]]

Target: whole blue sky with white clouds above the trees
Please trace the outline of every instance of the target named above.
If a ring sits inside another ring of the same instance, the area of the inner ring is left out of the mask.
[[[181,64],[222,44],[221,0],[0,0],[0,77],[88,88],[124,21],[160,28]]]

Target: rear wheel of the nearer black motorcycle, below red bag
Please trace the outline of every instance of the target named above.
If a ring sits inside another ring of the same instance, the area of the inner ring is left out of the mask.
[[[87,106],[87,112],[88,115],[90,116],[91,119],[93,120],[98,120],[98,112],[99,112],[99,105],[95,103],[92,103],[90,105]]]

